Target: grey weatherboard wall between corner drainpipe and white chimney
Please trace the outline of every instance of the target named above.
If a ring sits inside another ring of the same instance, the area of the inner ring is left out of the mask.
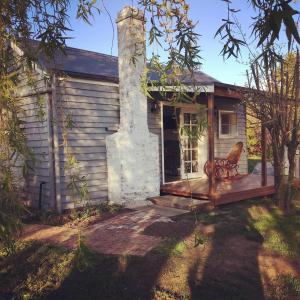
[[[66,78],[57,86],[57,113],[59,126],[59,164],[62,208],[82,205],[79,196],[68,188],[70,171],[66,166],[67,148],[63,147],[63,119],[69,115],[74,128],[67,130],[68,149],[79,162],[79,176],[86,176],[90,204],[106,201],[107,188],[107,136],[119,125],[118,85],[99,81]]]

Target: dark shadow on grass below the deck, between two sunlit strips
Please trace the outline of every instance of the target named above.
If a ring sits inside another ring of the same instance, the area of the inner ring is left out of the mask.
[[[215,224],[214,233],[200,278],[198,262],[190,270],[192,299],[264,299],[258,265],[263,238],[247,210],[231,207],[204,221]]]

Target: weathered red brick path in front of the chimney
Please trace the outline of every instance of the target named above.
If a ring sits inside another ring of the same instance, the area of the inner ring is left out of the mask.
[[[143,231],[155,222],[172,222],[170,217],[182,213],[186,211],[147,206],[90,225],[81,229],[81,234],[85,243],[94,251],[105,254],[144,256],[159,244],[161,238],[145,235]],[[78,230],[66,226],[34,224],[25,227],[22,238],[75,249]]]

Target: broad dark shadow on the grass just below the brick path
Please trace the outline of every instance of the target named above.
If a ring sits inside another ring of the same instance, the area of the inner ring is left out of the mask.
[[[144,233],[161,236],[164,241],[144,257],[101,255],[84,249],[85,268],[80,271],[74,267],[59,288],[45,298],[153,299],[163,267],[172,256],[185,250],[182,240],[192,234],[194,227],[193,222],[185,220],[180,224],[152,224]]]

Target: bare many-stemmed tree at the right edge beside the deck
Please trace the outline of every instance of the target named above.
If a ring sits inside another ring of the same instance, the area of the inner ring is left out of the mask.
[[[275,186],[281,206],[290,210],[295,174],[296,150],[300,144],[299,119],[299,53],[293,63],[286,59],[264,55],[255,60],[248,74],[248,87],[243,93],[251,113],[265,126],[272,143]],[[288,151],[289,175],[285,187],[284,153]]]

